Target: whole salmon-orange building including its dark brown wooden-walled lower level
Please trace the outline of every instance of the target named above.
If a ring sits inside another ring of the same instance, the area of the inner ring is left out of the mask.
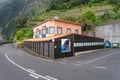
[[[46,20],[33,31],[33,39],[25,40],[24,47],[44,57],[71,57],[77,52],[104,48],[104,39],[84,36],[80,24],[68,21]]]

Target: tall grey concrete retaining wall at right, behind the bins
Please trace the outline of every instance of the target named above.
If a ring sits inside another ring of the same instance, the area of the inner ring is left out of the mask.
[[[98,26],[94,33],[90,32],[88,35],[104,38],[111,43],[120,43],[120,24]]]

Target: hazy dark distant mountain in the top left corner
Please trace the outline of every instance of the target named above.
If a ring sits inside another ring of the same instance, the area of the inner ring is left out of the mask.
[[[25,5],[26,0],[7,0],[2,1],[0,9],[0,26],[5,26],[12,18],[14,18]]]

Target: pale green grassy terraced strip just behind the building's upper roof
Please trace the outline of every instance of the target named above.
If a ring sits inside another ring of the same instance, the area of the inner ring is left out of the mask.
[[[113,7],[111,5],[104,5],[104,6],[95,6],[95,7],[81,7],[81,8],[72,8],[65,11],[60,10],[51,10],[44,14],[40,14],[38,16],[33,17],[31,20],[29,20],[26,25],[28,27],[32,27],[33,25],[36,25],[40,23],[41,21],[44,21],[45,19],[52,19],[54,17],[58,17],[59,19],[77,22],[75,18],[79,17],[83,12],[85,11],[93,11],[95,13],[96,17],[101,17],[105,14],[106,11],[113,11]]]

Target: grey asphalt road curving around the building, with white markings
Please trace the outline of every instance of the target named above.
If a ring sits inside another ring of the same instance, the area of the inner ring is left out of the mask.
[[[46,60],[2,45],[0,80],[120,80],[120,49]]]

